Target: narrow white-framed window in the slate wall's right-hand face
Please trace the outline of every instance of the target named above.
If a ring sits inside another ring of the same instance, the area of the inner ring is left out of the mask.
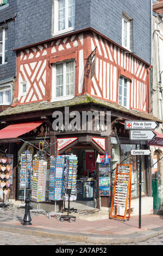
[[[130,19],[122,15],[122,46],[130,50]]]

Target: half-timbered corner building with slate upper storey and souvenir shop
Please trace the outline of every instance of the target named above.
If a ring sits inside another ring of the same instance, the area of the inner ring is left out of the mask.
[[[130,141],[124,121],[162,123],[162,117],[151,113],[152,3],[102,2],[17,1],[12,51],[16,54],[14,98],[12,105],[0,113],[0,142],[14,154],[14,200],[23,199],[19,187],[21,153],[31,149],[27,142],[33,145],[35,154],[35,147],[46,141],[49,155],[78,155],[78,179],[95,170],[91,177],[95,187],[92,200],[103,210],[110,208],[111,196],[99,197],[97,155],[107,151],[111,156],[111,184],[117,163],[132,164],[131,209],[133,215],[139,213],[140,159],[131,156],[131,149],[139,149],[140,145]],[[106,121],[106,111],[110,111],[111,132],[102,136],[101,127],[90,129],[89,118],[85,130],[78,124],[71,130],[64,123],[54,131],[53,113],[63,113],[65,118],[65,107],[68,113],[74,113],[70,120],[76,111],[80,117],[85,111],[104,112]],[[13,127],[20,127],[20,133],[11,133]],[[8,135],[3,129],[8,130]],[[67,141],[62,148],[57,147],[59,139]],[[97,143],[97,139],[103,143]],[[149,149],[149,145],[143,143],[143,149]],[[153,212],[150,164],[150,157],[143,156],[142,214]],[[47,197],[47,203],[53,202]]]

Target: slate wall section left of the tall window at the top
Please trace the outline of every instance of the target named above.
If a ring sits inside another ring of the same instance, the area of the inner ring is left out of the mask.
[[[17,0],[15,48],[52,37],[53,0]]]

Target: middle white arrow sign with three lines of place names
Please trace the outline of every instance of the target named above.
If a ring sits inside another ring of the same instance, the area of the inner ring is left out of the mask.
[[[130,139],[134,141],[151,141],[156,137],[154,131],[148,130],[130,130]]]

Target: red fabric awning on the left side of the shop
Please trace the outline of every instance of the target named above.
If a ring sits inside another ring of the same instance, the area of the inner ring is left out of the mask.
[[[24,133],[34,130],[41,125],[43,121],[33,121],[26,123],[11,124],[0,130],[0,142],[9,143],[18,141],[18,137]]]

